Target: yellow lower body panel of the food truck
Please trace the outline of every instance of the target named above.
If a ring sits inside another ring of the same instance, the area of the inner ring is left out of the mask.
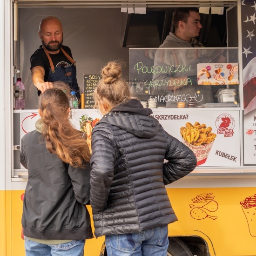
[[[211,256],[256,256],[256,220],[251,218],[256,207],[249,208],[247,215],[240,203],[252,202],[248,198],[256,194],[256,188],[167,189],[167,192],[178,217],[168,227],[169,236],[200,236],[208,244]],[[0,191],[1,204],[5,205],[0,208],[1,256],[25,256],[21,227],[23,193],[23,190]],[[88,210],[92,216],[91,208]],[[197,217],[191,214],[193,210],[197,210]],[[85,256],[99,256],[103,241],[104,237],[87,240]]]

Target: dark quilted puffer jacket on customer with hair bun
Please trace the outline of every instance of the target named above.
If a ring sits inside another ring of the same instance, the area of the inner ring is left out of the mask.
[[[140,233],[177,220],[165,185],[189,174],[196,157],[150,114],[131,100],[93,129],[90,202],[96,237]]]

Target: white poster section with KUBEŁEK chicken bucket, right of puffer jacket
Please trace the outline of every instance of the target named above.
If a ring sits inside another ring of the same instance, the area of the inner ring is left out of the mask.
[[[163,128],[196,155],[197,166],[240,166],[239,111],[158,111]]]

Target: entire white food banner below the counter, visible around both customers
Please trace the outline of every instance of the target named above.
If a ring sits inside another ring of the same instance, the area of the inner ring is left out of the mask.
[[[197,166],[240,166],[239,111],[160,111],[153,116],[171,135],[187,145],[197,157]],[[37,112],[20,113],[20,138],[35,129]],[[97,110],[72,112],[75,128],[87,134],[91,147],[91,132],[101,119]]]

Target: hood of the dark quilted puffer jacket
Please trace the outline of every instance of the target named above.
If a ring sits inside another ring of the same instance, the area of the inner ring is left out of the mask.
[[[151,115],[150,108],[143,108],[141,102],[132,99],[104,115],[94,129],[108,123],[140,138],[153,138],[159,130],[159,122]]]

